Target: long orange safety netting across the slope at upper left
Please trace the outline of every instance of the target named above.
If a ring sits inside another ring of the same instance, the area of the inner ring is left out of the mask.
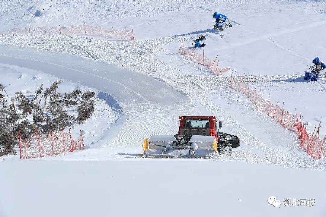
[[[13,28],[6,32],[0,32],[0,35],[99,35],[114,38],[124,38],[134,40],[134,31],[124,29],[105,29],[100,26],[69,26],[69,27],[48,27],[46,25],[42,27],[26,26],[21,28]]]

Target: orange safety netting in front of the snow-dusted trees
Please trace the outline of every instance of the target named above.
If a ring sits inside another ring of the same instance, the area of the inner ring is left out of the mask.
[[[64,152],[85,149],[82,134],[77,140],[71,133],[61,131],[57,134],[52,130],[48,134],[39,135],[37,132],[26,140],[22,140],[19,133],[19,148],[21,159],[59,155]]]

